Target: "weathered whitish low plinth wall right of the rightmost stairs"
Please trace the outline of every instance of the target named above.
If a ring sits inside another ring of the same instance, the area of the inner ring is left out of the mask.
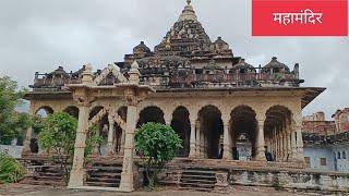
[[[349,174],[314,171],[232,170],[231,185],[272,186],[325,192],[349,192]]]

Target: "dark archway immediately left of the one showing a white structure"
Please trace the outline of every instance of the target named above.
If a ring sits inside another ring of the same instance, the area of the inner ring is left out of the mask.
[[[198,113],[200,131],[196,144],[202,158],[218,159],[222,157],[224,124],[221,111],[218,107],[208,105]]]

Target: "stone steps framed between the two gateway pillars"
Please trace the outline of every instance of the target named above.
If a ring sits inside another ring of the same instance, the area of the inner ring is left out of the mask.
[[[121,181],[121,163],[94,163],[86,171],[86,186],[119,187]]]

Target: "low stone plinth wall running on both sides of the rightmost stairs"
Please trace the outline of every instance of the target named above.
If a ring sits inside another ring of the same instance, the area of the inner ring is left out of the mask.
[[[181,187],[183,167],[168,168],[160,176],[160,182],[172,187]],[[192,168],[193,169],[193,168]],[[195,168],[198,170],[198,168]],[[321,194],[349,193],[349,173],[318,172],[294,169],[207,169],[215,171],[214,191],[230,192],[234,186],[264,186],[293,192],[309,192]]]

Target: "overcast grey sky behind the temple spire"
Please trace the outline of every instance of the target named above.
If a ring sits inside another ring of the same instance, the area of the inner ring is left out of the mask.
[[[122,61],[141,40],[153,49],[184,5],[185,0],[1,0],[0,75],[27,86],[35,71],[58,65],[103,69]],[[251,0],[193,0],[193,7],[212,40],[221,36],[234,56],[255,66],[274,56],[291,69],[300,63],[303,86],[327,87],[304,114],[323,110],[329,119],[349,107],[348,37],[252,37]]]

